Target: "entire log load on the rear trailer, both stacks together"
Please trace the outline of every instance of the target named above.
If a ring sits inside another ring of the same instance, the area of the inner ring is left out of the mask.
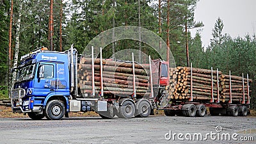
[[[231,82],[232,101],[242,102],[244,93],[246,102],[248,100],[247,81],[249,85],[252,83],[252,79],[244,78],[243,84],[243,77],[240,76],[231,76],[230,81],[229,75],[222,74],[217,70],[202,68],[192,68],[192,76],[190,67],[170,68],[169,74],[170,81],[166,90],[170,95],[169,98],[174,100],[189,100],[193,95],[193,101],[217,102],[216,100],[219,97],[220,102],[228,102],[230,100]],[[212,99],[212,96],[214,99]]]

